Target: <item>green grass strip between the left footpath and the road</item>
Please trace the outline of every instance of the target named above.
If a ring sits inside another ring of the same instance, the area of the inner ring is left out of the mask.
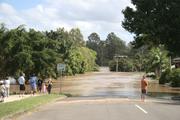
[[[55,100],[56,98],[63,97],[63,95],[51,94],[36,97],[29,97],[20,101],[1,103],[0,104],[0,119],[6,116],[12,116],[17,113],[22,113],[38,107],[42,104]]]

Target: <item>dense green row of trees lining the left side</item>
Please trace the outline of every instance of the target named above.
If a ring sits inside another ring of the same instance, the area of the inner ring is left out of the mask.
[[[40,32],[24,26],[7,29],[0,26],[0,77],[57,77],[58,63],[66,64],[67,74],[94,70],[96,53],[85,47],[79,29]]]

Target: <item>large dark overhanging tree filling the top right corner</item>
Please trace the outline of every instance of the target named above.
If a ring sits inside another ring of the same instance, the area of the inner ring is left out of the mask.
[[[136,46],[164,45],[173,55],[180,55],[180,1],[131,0],[134,8],[123,10],[122,26],[136,35]]]

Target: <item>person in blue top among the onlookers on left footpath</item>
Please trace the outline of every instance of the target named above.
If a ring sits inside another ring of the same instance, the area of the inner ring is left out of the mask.
[[[30,83],[30,87],[31,87],[31,93],[34,96],[36,93],[36,89],[37,89],[37,77],[35,76],[35,74],[33,74],[30,79],[29,79],[29,83]]]

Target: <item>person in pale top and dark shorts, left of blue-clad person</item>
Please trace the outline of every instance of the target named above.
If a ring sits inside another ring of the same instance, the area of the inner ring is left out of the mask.
[[[24,92],[25,92],[25,74],[21,73],[21,76],[18,78],[18,82],[19,82],[19,97],[24,97]]]

